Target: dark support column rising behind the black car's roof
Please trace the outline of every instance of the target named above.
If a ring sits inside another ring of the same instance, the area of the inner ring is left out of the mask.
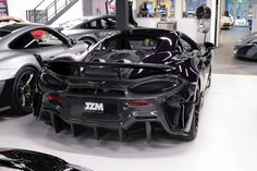
[[[128,0],[117,0],[117,29],[128,29]]]

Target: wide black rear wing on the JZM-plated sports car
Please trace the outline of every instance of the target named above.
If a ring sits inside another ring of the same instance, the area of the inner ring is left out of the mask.
[[[122,77],[124,70],[146,70],[152,72],[168,73],[174,70],[173,66],[152,63],[101,63],[101,62],[77,62],[77,61],[51,61],[45,70],[63,76],[118,76]],[[114,74],[114,75],[113,75]]]

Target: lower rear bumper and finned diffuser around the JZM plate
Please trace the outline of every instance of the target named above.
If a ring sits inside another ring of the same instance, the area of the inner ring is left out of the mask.
[[[85,99],[88,98],[79,98]],[[146,131],[147,139],[150,139],[152,130],[159,129],[170,135],[186,136],[191,120],[186,121],[183,127],[180,127],[182,117],[189,115],[193,109],[193,101],[168,101],[169,107],[164,107],[163,97],[155,97],[147,99],[131,99],[131,98],[89,98],[89,101],[112,102],[118,105],[117,113],[86,113],[83,112],[85,106],[73,106],[71,101],[77,98],[69,97],[62,103],[52,103],[42,100],[39,118],[50,119],[52,126],[57,133],[70,127],[73,135],[77,135],[82,126],[93,127],[96,132],[96,138],[99,129],[119,131],[120,139],[123,141],[123,132],[132,130]],[[130,101],[150,101],[150,106],[131,107]],[[79,109],[81,108],[81,109]],[[191,118],[191,117],[188,117]]]

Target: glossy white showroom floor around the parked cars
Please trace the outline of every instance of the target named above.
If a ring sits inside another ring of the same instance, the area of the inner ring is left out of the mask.
[[[159,137],[127,143],[95,141],[53,130],[33,115],[0,119],[0,147],[52,154],[95,171],[256,171],[257,76],[212,76],[198,136],[180,143]]]

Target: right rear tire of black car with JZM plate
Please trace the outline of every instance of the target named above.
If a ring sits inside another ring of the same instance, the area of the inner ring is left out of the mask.
[[[196,89],[195,100],[197,100],[197,102],[196,102],[196,105],[194,107],[194,111],[193,111],[191,130],[189,130],[187,136],[185,136],[185,141],[194,141],[197,135],[197,132],[198,132],[199,111],[200,111],[200,107],[201,107],[201,98],[200,98],[199,87]]]

